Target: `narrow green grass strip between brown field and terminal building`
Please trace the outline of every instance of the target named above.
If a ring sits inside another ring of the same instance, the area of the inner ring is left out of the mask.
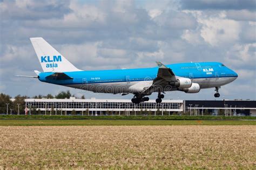
[[[0,126],[57,126],[57,125],[256,125],[256,121],[200,120],[95,120],[95,119],[0,119]]]

